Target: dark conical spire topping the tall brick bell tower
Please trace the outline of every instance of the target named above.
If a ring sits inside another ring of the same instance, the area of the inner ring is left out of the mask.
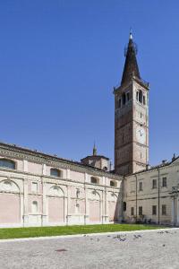
[[[125,64],[124,64],[124,72],[121,80],[121,84],[125,82],[129,82],[131,80],[132,75],[141,79],[139,67],[137,64],[137,48],[135,43],[132,40],[132,30],[130,29],[129,35],[129,43],[125,53]]]

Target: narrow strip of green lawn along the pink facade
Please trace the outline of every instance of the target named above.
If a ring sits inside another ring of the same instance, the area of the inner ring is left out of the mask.
[[[75,225],[55,227],[3,228],[0,229],[0,239],[21,239],[72,234],[87,234],[107,231],[152,230],[159,228],[164,227],[147,224],[99,224],[81,226]]]

